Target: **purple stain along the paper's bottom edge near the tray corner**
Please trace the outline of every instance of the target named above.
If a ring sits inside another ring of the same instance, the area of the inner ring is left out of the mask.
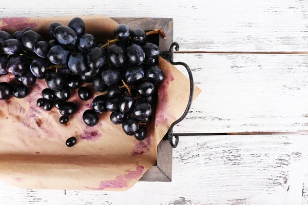
[[[136,168],[136,171],[129,171],[127,170],[127,174],[123,174],[120,176],[115,177],[113,180],[103,180],[100,183],[99,188],[91,188],[91,187],[85,187],[86,189],[91,190],[104,190],[104,189],[122,189],[124,187],[128,187],[129,179],[136,179],[140,177],[143,173],[144,167],[138,166]]]

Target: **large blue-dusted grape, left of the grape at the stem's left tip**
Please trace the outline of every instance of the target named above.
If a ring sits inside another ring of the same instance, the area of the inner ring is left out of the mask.
[[[72,53],[69,56],[68,67],[75,74],[82,75],[89,71],[85,57],[81,53]]]

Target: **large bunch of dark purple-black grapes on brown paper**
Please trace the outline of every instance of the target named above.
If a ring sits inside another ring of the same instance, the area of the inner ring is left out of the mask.
[[[15,75],[16,85],[0,83],[0,99],[26,97],[35,81],[45,80],[49,88],[42,91],[37,106],[49,111],[56,107],[67,124],[77,105],[68,101],[72,89],[78,89],[81,100],[89,100],[92,92],[83,87],[91,83],[100,93],[92,101],[92,109],[83,113],[83,121],[95,126],[99,114],[111,111],[110,120],[122,125],[127,135],[143,140],[145,126],[152,120],[152,108],[157,99],[157,85],[164,73],[157,64],[160,49],[146,41],[142,29],[130,30],[120,24],[114,29],[114,40],[104,44],[85,33],[84,21],[75,17],[67,26],[49,25],[49,42],[25,28],[12,36],[0,31],[0,75]]]

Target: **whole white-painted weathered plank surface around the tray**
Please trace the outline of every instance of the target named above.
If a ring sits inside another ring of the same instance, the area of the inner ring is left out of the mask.
[[[0,204],[308,204],[307,0],[0,1],[0,17],[66,14],[174,18],[175,60],[203,92],[176,128],[173,180],[66,195],[0,182]]]

